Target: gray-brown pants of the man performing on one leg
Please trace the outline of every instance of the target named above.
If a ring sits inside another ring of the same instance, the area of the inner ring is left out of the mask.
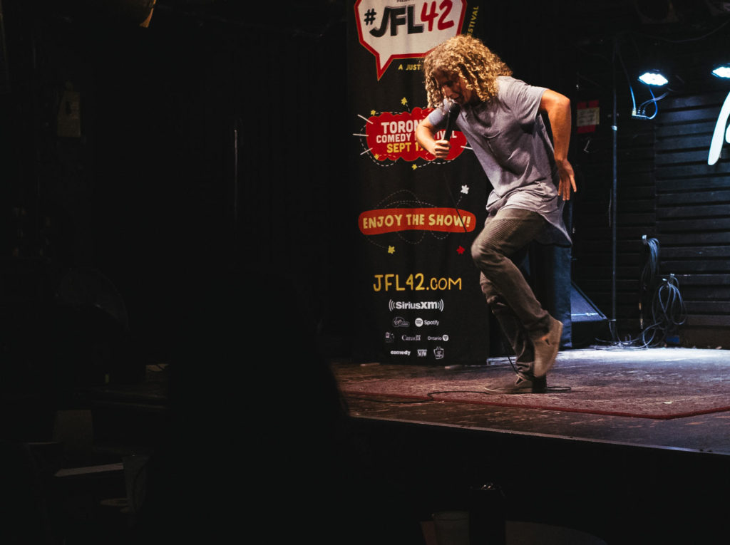
[[[527,378],[532,375],[534,360],[531,339],[548,332],[550,317],[518,264],[546,224],[537,212],[501,209],[487,218],[472,244],[472,258],[481,271],[482,292],[515,351],[518,372]]]

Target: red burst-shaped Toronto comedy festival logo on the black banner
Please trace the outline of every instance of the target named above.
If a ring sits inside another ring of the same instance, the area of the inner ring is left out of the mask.
[[[415,161],[418,158],[432,161],[434,155],[420,147],[415,139],[415,129],[418,123],[426,118],[433,109],[414,108],[412,112],[393,114],[383,112],[380,115],[369,117],[365,136],[367,147],[374,158],[379,161],[389,159],[396,161]],[[437,138],[442,138],[445,131],[437,132]],[[451,161],[461,155],[466,146],[466,136],[460,131],[451,134],[451,150],[446,160]]]

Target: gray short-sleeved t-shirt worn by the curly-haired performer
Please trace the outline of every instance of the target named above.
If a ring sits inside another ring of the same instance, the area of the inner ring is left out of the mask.
[[[569,245],[553,144],[539,114],[545,88],[507,76],[498,77],[497,84],[495,100],[464,105],[456,119],[456,128],[466,136],[492,185],[487,211],[520,208],[537,212],[550,224],[538,241]],[[446,116],[437,108],[429,121],[443,128]]]

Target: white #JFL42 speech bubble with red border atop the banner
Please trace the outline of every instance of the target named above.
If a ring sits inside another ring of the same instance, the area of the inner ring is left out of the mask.
[[[375,56],[377,79],[396,58],[420,58],[461,31],[464,0],[357,0],[360,44]]]

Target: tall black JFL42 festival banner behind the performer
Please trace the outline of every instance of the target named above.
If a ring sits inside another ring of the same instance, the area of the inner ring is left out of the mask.
[[[475,33],[479,2],[357,0],[349,17],[355,357],[484,363],[488,307],[470,247],[491,185],[461,132],[446,161],[415,140],[431,111],[421,61],[451,36]]]

